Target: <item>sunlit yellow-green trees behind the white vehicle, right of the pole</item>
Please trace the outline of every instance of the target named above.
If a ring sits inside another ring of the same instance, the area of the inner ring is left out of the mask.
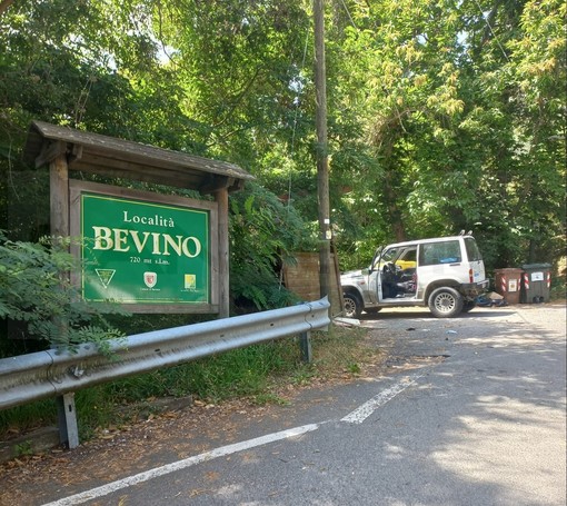
[[[366,188],[341,198],[367,231],[350,245],[342,236],[341,251],[369,251],[367,238],[465,228],[488,267],[556,258],[565,228],[565,2],[348,8],[354,22],[332,46],[346,91],[336,103],[356,110],[380,163],[361,179]],[[376,217],[367,224],[369,209]]]

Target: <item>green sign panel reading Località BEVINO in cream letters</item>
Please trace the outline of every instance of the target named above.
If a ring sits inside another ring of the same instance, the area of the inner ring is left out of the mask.
[[[211,304],[210,209],[88,190],[79,196],[86,300]]]

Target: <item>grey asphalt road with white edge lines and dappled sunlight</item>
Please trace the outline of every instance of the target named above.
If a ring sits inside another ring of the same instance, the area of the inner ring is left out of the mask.
[[[67,482],[42,469],[47,479],[30,476],[0,504],[566,504],[565,305],[450,320],[400,309],[362,325],[388,360],[356,383],[306,390],[255,419],[237,411],[206,444],[187,435],[182,447],[161,441],[158,457],[133,460],[132,449],[131,462],[121,449],[121,473],[106,478],[94,468],[116,455],[90,455],[82,479],[73,469],[84,459],[70,458]]]

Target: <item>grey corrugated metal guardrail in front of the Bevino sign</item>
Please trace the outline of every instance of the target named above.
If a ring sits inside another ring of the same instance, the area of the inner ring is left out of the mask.
[[[73,448],[78,446],[78,436],[69,433],[77,433],[74,391],[236,348],[306,335],[330,324],[329,307],[327,298],[322,298],[284,309],[138,334],[110,340],[109,356],[102,355],[94,345],[81,345],[76,353],[51,349],[2,358],[0,409],[67,396],[64,419],[60,413],[59,424],[64,431],[61,439]]]

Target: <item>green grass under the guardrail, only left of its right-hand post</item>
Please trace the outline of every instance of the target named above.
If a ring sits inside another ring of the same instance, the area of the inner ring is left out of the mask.
[[[86,388],[76,396],[80,436],[90,438],[100,427],[127,424],[137,418],[140,405],[151,411],[151,400],[158,397],[196,396],[211,403],[258,397],[258,404],[281,403],[270,393],[273,377],[301,367],[299,347],[289,338]],[[131,409],[123,409],[127,406]],[[0,411],[0,436],[9,429],[27,431],[56,420],[53,400],[19,406]]]

